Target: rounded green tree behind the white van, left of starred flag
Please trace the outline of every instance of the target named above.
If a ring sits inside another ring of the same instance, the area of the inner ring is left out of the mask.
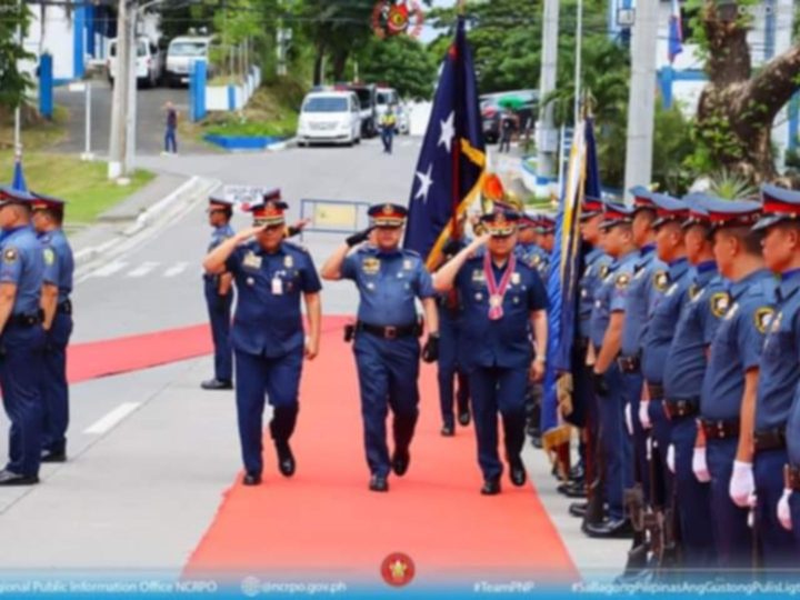
[[[359,52],[359,71],[364,81],[384,82],[403,98],[430,98],[437,61],[424,46],[408,36],[372,38]]]

